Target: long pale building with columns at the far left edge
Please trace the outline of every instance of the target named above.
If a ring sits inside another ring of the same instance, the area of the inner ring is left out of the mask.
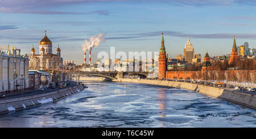
[[[29,89],[28,56],[11,47],[0,51],[0,94]]]

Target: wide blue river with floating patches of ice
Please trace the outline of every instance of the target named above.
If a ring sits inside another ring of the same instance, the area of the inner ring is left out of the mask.
[[[256,127],[256,111],[194,91],[121,82],[0,115],[0,127]]]

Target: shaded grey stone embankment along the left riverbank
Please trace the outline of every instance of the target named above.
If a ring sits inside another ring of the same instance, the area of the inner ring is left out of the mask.
[[[45,103],[52,103],[67,96],[84,90],[82,85],[68,87],[59,91],[47,92],[39,95],[24,96],[15,99],[0,100],[0,114],[19,111],[24,108],[40,106]]]

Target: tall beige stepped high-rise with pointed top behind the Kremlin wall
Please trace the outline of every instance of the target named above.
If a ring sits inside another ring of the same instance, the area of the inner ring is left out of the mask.
[[[184,49],[184,60],[188,63],[192,63],[192,59],[195,58],[195,50],[193,49],[193,44],[191,44],[189,37],[188,42],[185,44]]]

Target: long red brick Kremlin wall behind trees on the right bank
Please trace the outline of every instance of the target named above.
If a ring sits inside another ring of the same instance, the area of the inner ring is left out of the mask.
[[[230,80],[233,77],[236,77],[236,73],[237,71],[240,72],[240,77],[242,78],[242,73],[241,71],[242,70],[218,70],[218,75],[219,76],[224,76],[225,78],[225,71],[228,71],[228,80]],[[245,79],[244,81],[246,81],[246,75],[247,75],[247,78],[250,78],[250,72],[253,71],[254,72],[254,82],[256,81],[256,78],[255,78],[255,75],[256,75],[256,70],[243,70],[245,71],[245,73],[243,73],[243,79]],[[212,73],[212,71],[209,71],[210,73]],[[204,72],[203,71],[198,71],[198,74],[199,74],[199,79],[201,77],[201,79],[204,78]],[[201,74],[201,75],[200,75]],[[213,73],[210,75],[210,76],[213,76]],[[214,75],[215,79],[216,78],[216,74]],[[196,79],[197,78],[197,71],[166,71],[166,77],[167,79],[174,79],[174,77],[177,77],[177,79],[185,79],[187,77],[189,77],[190,79]],[[207,74],[207,78],[208,78],[208,74]],[[213,77],[212,77],[213,79]]]

